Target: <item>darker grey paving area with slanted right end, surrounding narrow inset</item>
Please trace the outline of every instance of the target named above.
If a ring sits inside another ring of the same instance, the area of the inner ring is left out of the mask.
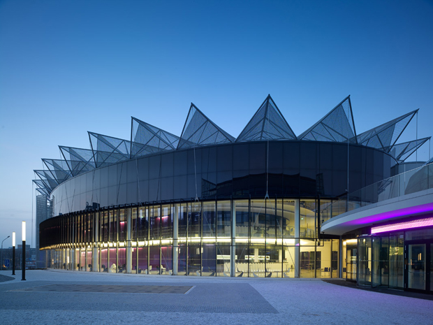
[[[96,292],[99,287],[106,292]],[[126,292],[122,289],[129,287]],[[141,312],[207,312],[207,313],[278,313],[278,311],[248,283],[182,283],[191,289],[187,294],[133,293],[143,287],[172,290],[175,283],[126,284],[89,282],[50,283],[20,281],[0,286],[0,314],[3,310],[123,310]],[[170,288],[171,287],[171,288]],[[58,288],[59,291],[50,291]],[[80,288],[80,289],[74,289]],[[62,291],[64,290],[64,291]],[[78,290],[78,291],[74,291]],[[87,292],[83,292],[86,291]],[[111,291],[116,291],[115,293]],[[157,291],[157,290],[152,290]],[[54,294],[56,293],[56,294]],[[19,303],[18,303],[19,301]]]

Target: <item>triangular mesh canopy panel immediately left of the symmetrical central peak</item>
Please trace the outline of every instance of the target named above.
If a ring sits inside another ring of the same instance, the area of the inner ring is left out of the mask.
[[[234,141],[235,138],[233,136],[230,136],[230,134],[218,127],[217,124],[214,124],[191,103],[177,148],[232,143]]]

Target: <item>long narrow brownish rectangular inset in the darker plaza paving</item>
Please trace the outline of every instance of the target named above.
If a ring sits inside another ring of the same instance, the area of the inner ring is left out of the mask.
[[[102,294],[186,294],[192,286],[161,285],[101,285],[101,284],[50,284],[12,291],[21,292],[73,292]]]

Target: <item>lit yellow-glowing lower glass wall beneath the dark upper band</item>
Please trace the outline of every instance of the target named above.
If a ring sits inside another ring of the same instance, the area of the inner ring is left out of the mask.
[[[178,275],[338,276],[339,240],[316,238],[315,200],[159,203],[62,218],[62,227],[71,225],[71,231],[62,233],[75,245],[87,247],[75,250],[79,252],[75,257],[78,270],[91,271],[95,265],[100,272],[126,273],[131,269],[138,274],[163,275],[175,273],[173,263],[177,263]],[[130,248],[126,247],[129,227]],[[66,243],[67,238],[61,240]],[[95,264],[91,247],[99,247]],[[385,281],[386,271],[378,275]]]

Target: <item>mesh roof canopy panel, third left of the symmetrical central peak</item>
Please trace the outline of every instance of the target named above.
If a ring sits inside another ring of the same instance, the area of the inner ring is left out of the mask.
[[[131,141],[93,132],[89,132],[89,139],[91,150],[94,152],[96,167],[131,158]]]

